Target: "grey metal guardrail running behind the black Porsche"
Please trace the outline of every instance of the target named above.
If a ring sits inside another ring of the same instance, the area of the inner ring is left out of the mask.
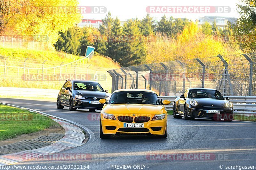
[[[236,114],[256,114],[256,96],[223,96],[228,97],[234,105]],[[159,96],[160,100],[170,100],[171,104],[166,105],[167,110],[173,109],[173,102],[176,96]]]

